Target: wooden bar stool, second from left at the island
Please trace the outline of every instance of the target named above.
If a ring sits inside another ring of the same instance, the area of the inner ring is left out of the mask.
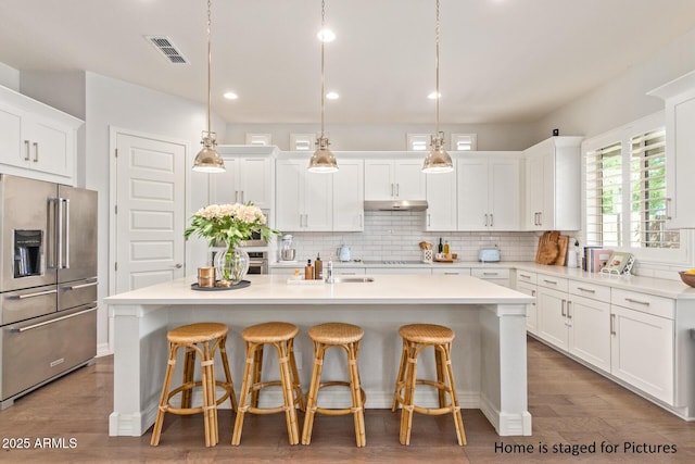
[[[295,407],[299,405],[301,410],[304,410],[304,399],[293,350],[294,336],[296,336],[298,331],[299,329],[295,325],[288,323],[257,324],[241,331],[241,338],[247,343],[247,365],[243,371],[243,385],[241,386],[231,444],[237,446],[241,441],[241,429],[243,428],[245,413],[274,414],[282,411],[285,411],[287,417],[287,432],[290,444],[300,442]],[[271,344],[278,352],[280,379],[262,383],[263,349],[266,344]],[[276,407],[258,407],[261,389],[270,386],[282,387],[285,404]]]

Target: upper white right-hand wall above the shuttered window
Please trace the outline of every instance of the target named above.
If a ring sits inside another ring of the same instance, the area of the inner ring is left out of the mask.
[[[543,117],[535,125],[535,141],[549,137],[556,127],[560,135],[593,137],[662,110],[664,100],[646,92],[695,70],[693,50],[695,30]]]

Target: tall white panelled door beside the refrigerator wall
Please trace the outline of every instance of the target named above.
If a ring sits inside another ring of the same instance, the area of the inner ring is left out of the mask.
[[[186,145],[115,134],[115,292],[184,277]]]

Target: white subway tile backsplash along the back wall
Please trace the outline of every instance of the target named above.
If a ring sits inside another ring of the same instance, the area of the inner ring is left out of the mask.
[[[337,249],[346,244],[353,260],[420,260],[418,243],[448,241],[450,251],[460,261],[478,261],[482,247],[500,248],[502,261],[533,261],[538,234],[520,231],[445,231],[425,230],[425,212],[365,211],[365,229],[359,233],[291,233],[298,261],[336,259]]]

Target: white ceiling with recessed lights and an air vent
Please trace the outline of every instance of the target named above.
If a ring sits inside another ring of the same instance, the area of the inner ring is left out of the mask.
[[[1,0],[0,62],[90,71],[205,102],[205,0]],[[434,0],[327,0],[326,122],[434,120]],[[319,0],[212,0],[213,110],[320,118]],[[533,122],[688,30],[692,0],[441,0],[441,121]],[[146,35],[170,38],[169,64]],[[222,97],[232,90],[239,99]]]

